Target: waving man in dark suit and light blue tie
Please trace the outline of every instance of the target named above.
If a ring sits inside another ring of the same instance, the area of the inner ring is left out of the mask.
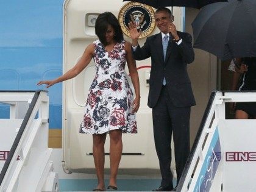
[[[175,191],[170,169],[172,132],[179,183],[190,152],[190,107],[196,104],[187,73],[187,64],[194,60],[192,38],[177,31],[173,19],[169,9],[157,9],[155,23],[161,32],[148,37],[142,47],[138,44],[141,31],[135,23],[129,23],[133,57],[151,57],[148,106],[152,108],[155,148],[162,174],[161,185],[154,191]]]

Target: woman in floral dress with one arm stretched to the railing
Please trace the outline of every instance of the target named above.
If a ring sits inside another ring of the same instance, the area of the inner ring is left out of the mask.
[[[94,59],[96,75],[88,93],[79,132],[93,135],[93,157],[98,177],[98,186],[93,191],[105,190],[104,144],[109,133],[110,180],[107,188],[117,190],[116,176],[123,149],[122,133],[137,133],[135,113],[140,105],[140,85],[131,44],[124,40],[115,15],[110,12],[100,14],[96,20],[95,33],[99,39],[87,46],[73,68],[57,79],[42,80],[37,85],[46,84],[48,88],[76,77]],[[125,76],[126,62],[135,89],[135,99]]]

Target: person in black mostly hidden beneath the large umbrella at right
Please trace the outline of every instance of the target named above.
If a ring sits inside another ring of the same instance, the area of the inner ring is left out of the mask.
[[[239,91],[256,90],[256,57],[246,57],[241,59]],[[235,107],[236,119],[256,118],[256,102],[237,102]]]

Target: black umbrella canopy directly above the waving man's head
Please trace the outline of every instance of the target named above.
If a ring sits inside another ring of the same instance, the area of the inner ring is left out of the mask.
[[[124,0],[130,1],[130,0]],[[205,5],[212,4],[213,2],[223,2],[227,0],[131,0],[133,2],[140,2],[156,9],[160,7],[193,7],[201,9]]]

